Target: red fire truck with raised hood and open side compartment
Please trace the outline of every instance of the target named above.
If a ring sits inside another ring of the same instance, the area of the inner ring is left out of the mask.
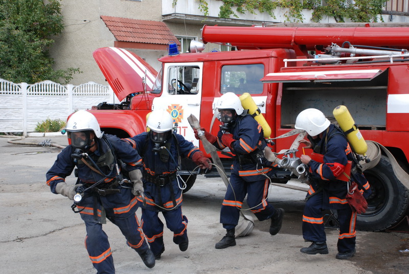
[[[102,130],[121,138],[133,136],[145,131],[148,112],[166,108],[177,132],[202,148],[187,117],[193,114],[202,127],[216,133],[217,121],[210,129],[215,103],[226,92],[251,94],[272,138],[291,131],[303,109],[317,108],[331,117],[335,107],[345,105],[365,140],[385,148],[379,150],[377,165],[365,170],[373,194],[368,211],[358,217],[358,228],[383,231],[406,216],[409,181],[402,176],[399,180],[391,163],[409,168],[409,52],[405,50],[409,28],[205,26],[202,41],[229,43],[237,50],[205,53],[204,45],[194,41],[189,53],[178,54],[170,44],[169,56],[160,59],[160,72],[124,49],[96,50],[94,58],[123,100],[90,110]],[[288,149],[293,141],[276,139],[271,149]],[[230,161],[220,156],[223,163]],[[185,170],[189,169],[192,165],[185,161]],[[289,178],[284,172],[275,181],[285,184]],[[193,183],[194,178],[187,189]]]

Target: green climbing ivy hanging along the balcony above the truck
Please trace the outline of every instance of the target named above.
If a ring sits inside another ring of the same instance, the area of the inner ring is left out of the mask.
[[[209,0],[196,0],[199,2],[199,9],[203,15],[209,15]],[[239,18],[237,13],[244,14],[249,12],[257,14],[267,12],[272,18],[276,19],[274,10],[278,7],[288,9],[284,13],[285,21],[303,22],[302,10],[313,10],[311,20],[320,22],[325,17],[333,17],[336,22],[377,22],[378,15],[382,12],[383,6],[388,0],[221,0],[219,17],[230,18],[234,16]],[[173,7],[177,0],[173,0]],[[236,13],[236,12],[237,13]],[[382,17],[380,20],[383,21]]]

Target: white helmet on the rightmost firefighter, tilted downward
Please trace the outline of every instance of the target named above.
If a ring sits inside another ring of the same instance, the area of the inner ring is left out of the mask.
[[[331,122],[322,111],[316,108],[307,108],[297,116],[294,127],[307,131],[310,136],[316,136],[326,130],[330,124]]]

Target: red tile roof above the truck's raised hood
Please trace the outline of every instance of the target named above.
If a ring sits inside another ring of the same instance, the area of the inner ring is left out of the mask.
[[[180,45],[164,22],[102,15],[101,19],[120,42],[167,45],[174,41]]]

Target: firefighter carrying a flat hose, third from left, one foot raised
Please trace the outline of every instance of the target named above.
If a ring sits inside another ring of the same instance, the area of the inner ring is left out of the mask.
[[[264,157],[266,142],[259,123],[244,111],[234,93],[222,95],[216,105],[222,126],[217,137],[205,131],[206,139],[219,149],[228,147],[235,155],[230,184],[224,195],[220,223],[226,235],[216,243],[216,249],[236,245],[235,227],[247,195],[247,204],[259,221],[271,220],[269,233],[276,235],[282,225],[284,210],[268,203],[269,177],[274,175],[272,163]],[[198,139],[197,131],[195,137]]]

